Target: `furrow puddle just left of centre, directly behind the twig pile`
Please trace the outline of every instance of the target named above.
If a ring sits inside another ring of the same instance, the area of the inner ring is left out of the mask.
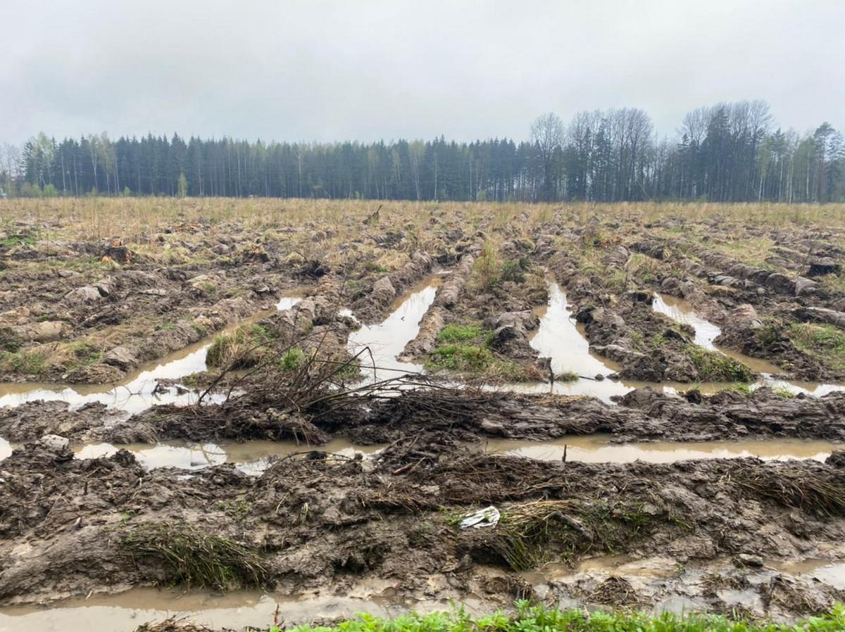
[[[352,354],[369,347],[359,358],[364,379],[379,382],[399,377],[402,373],[420,373],[421,364],[400,362],[397,356],[405,350],[409,341],[417,337],[423,314],[434,301],[434,294],[443,281],[442,275],[431,275],[417,283],[390,306],[390,316],[380,324],[362,325],[361,329],[349,335],[347,347]],[[373,364],[376,369],[373,370]]]

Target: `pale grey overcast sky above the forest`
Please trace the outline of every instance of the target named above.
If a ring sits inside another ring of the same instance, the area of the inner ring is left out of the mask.
[[[764,99],[845,130],[845,0],[4,0],[0,141],[526,138],[541,112]]]

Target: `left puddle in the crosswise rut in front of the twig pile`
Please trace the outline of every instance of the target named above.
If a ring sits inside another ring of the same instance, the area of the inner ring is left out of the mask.
[[[353,458],[356,453],[370,455],[384,448],[384,445],[356,445],[346,439],[332,439],[328,444],[308,446],[292,441],[221,441],[220,444],[190,444],[172,441],[161,444],[87,444],[75,449],[78,459],[95,459],[110,456],[118,448],[128,449],[144,467],[178,467],[183,470],[199,470],[222,463],[234,463],[247,474],[259,475],[266,470],[274,458],[316,449],[334,455]]]

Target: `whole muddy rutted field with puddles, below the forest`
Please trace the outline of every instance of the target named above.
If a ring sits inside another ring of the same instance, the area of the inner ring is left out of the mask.
[[[0,629],[821,612],[842,212],[0,200]]]

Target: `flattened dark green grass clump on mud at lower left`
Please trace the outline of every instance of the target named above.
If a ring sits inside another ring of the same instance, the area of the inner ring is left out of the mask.
[[[134,558],[161,565],[175,584],[225,591],[264,583],[266,571],[253,548],[188,524],[145,522],[122,543]]]

